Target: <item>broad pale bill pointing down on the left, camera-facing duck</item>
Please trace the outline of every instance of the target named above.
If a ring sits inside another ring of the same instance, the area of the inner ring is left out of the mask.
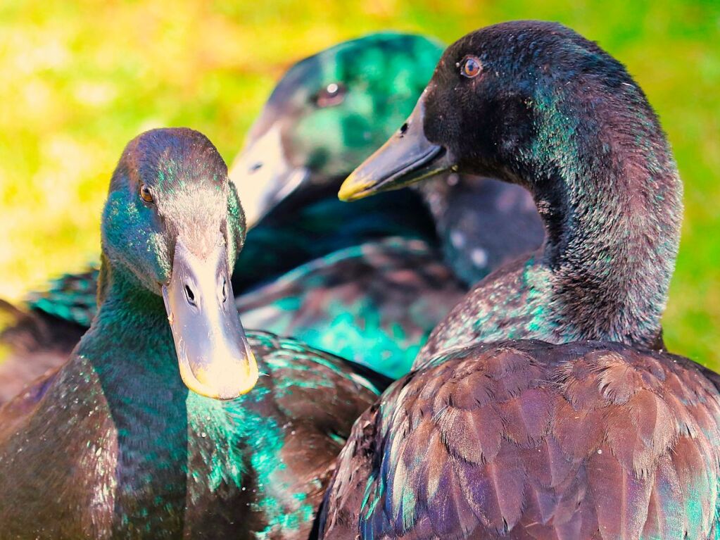
[[[186,386],[220,400],[249,392],[258,365],[235,307],[222,236],[205,258],[178,240],[171,279],[162,289]]]

